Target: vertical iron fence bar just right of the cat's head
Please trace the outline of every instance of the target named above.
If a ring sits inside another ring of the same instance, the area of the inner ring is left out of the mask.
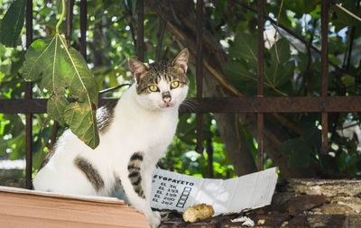
[[[203,93],[203,66],[202,66],[202,34],[203,34],[203,0],[197,0],[197,59],[196,59],[196,81],[197,81],[197,101],[199,105],[202,103]],[[203,114],[197,112],[196,115],[196,132],[197,146],[199,153],[203,152],[203,131],[202,131]]]

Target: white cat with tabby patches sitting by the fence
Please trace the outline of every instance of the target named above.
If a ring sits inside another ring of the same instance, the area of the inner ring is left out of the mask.
[[[121,182],[131,205],[152,227],[161,223],[150,205],[152,173],[175,134],[178,108],[185,100],[189,51],[171,62],[129,59],[134,84],[109,107],[97,110],[100,143],[95,150],[70,130],[60,136],[33,180],[35,190],[112,196]]]

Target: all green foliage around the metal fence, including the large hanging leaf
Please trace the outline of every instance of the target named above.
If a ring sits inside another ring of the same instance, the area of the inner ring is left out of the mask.
[[[94,110],[97,105],[97,91],[128,83],[131,74],[127,68],[127,58],[134,56],[133,33],[136,28],[136,0],[88,1],[88,54],[87,63],[79,55],[79,2],[74,6],[73,32],[70,41],[60,35],[64,28],[57,12],[61,11],[60,1],[34,1],[34,40],[32,47],[25,51],[20,45],[19,36],[24,34],[22,21],[24,1],[4,0],[0,2],[0,98],[23,98],[23,77],[34,80],[33,97],[50,97],[48,114],[35,114],[33,122],[34,169],[38,169],[43,156],[51,150],[53,121],[64,125],[57,136],[69,125],[80,138],[92,146],[97,145],[94,132]],[[256,1],[243,3],[256,8]],[[300,36],[310,44],[320,47],[320,1],[312,0],[272,0],[266,4],[266,15]],[[334,3],[361,16],[356,7],[357,0],[338,0],[331,3],[329,13],[329,59],[343,68],[329,68],[330,96],[359,96],[361,92],[361,25],[350,14],[339,10]],[[281,7],[282,5],[282,7]],[[16,11],[14,11],[16,9]],[[193,8],[190,9],[192,11]],[[9,12],[14,12],[10,14]],[[218,0],[209,2],[204,8],[205,30],[210,40],[219,41],[227,53],[223,72],[232,86],[245,96],[255,96],[257,79],[257,39],[256,14],[245,10],[235,1]],[[158,47],[158,17],[146,7],[144,22],[145,61],[154,59]],[[7,20],[7,23],[4,21]],[[192,18],[190,18],[192,20]],[[18,26],[16,25],[18,24]],[[347,64],[347,47],[351,42],[351,28],[355,27],[353,49]],[[269,22],[266,31],[274,30]],[[10,32],[3,32],[3,31]],[[20,33],[19,33],[20,32]],[[271,35],[273,36],[273,34]],[[6,38],[3,38],[6,37]],[[44,37],[50,37],[44,39]],[[5,39],[5,40],[3,40]],[[69,44],[68,44],[69,42]],[[272,41],[271,41],[272,42]],[[62,48],[61,48],[62,47]],[[164,34],[162,59],[171,59],[179,51],[178,42],[168,31]],[[43,55],[43,56],[42,56]],[[45,58],[46,56],[46,58]],[[320,58],[292,35],[278,30],[277,42],[264,50],[264,94],[265,96],[319,96]],[[38,60],[37,57],[40,57]],[[33,59],[35,58],[35,59]],[[54,61],[54,58],[56,61]],[[23,66],[23,73],[19,68]],[[206,59],[212,59],[209,55]],[[88,66],[87,66],[88,65]],[[48,67],[48,68],[46,68]],[[88,68],[89,67],[89,68]],[[217,67],[217,66],[216,66]],[[28,70],[29,69],[29,70]],[[52,71],[51,69],[56,69]],[[77,71],[81,72],[79,75]],[[75,77],[72,78],[75,72]],[[94,76],[94,77],[93,77]],[[190,73],[190,97],[195,96],[194,76]],[[97,84],[92,80],[95,78]],[[74,79],[74,80],[72,80]],[[83,82],[83,83],[81,83]],[[82,87],[82,84],[85,87]],[[55,85],[55,86],[54,86]],[[106,97],[119,97],[125,87],[108,93]],[[87,112],[87,113],[82,113]],[[289,161],[290,169],[309,168],[319,165],[324,173],[332,175],[361,175],[361,151],[358,141],[339,135],[337,130],[346,122],[359,122],[359,114],[329,114],[330,152],[322,155],[320,146],[319,114],[280,114],[293,128],[265,115],[266,126],[273,127],[273,135],[282,144],[279,156]],[[90,124],[89,124],[90,123]],[[90,126],[93,126],[91,128]],[[213,114],[205,114],[203,121],[203,153],[195,152],[196,134],[194,115],[180,116],[180,123],[174,141],[162,167],[202,177],[210,177],[208,166],[208,141],[213,149],[213,175],[217,178],[235,176],[232,161],[227,160],[226,147],[218,133]],[[255,135],[241,126],[240,133],[245,135],[245,146],[256,160],[257,143]],[[56,135],[55,135],[56,136]],[[24,115],[0,114],[0,158],[21,159],[24,156]],[[209,148],[208,148],[209,149]],[[268,148],[265,148],[267,151]],[[266,167],[273,161],[266,157]],[[282,170],[281,170],[282,172]]]

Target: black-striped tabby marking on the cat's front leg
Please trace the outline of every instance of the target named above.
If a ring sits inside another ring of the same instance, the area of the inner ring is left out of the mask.
[[[143,187],[142,187],[142,177],[141,177],[141,165],[143,161],[143,152],[135,152],[132,157],[130,157],[128,163],[128,178],[133,185],[134,191],[138,196],[145,198]]]

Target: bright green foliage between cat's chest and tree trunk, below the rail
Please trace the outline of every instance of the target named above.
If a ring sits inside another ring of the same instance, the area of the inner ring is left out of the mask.
[[[204,114],[203,135],[211,137],[212,164],[208,164],[208,151],[202,154],[195,151],[195,114],[183,114],[180,116],[177,133],[168,148],[166,156],[161,160],[162,169],[169,169],[179,173],[185,173],[201,178],[233,178],[236,176],[232,162],[227,160],[225,145],[219,138],[217,124],[212,121],[209,114]],[[209,166],[211,166],[210,173]]]

